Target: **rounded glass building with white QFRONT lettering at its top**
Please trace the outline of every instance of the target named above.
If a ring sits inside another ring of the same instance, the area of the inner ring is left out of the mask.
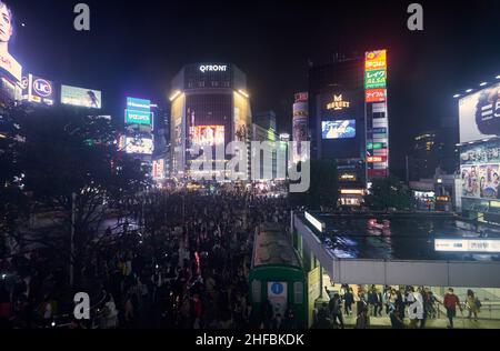
[[[250,142],[252,114],[247,77],[231,63],[193,63],[172,80],[171,177],[177,180],[228,176],[232,157],[216,154],[231,141]],[[200,168],[200,148],[212,147],[212,169]],[[247,171],[240,166],[236,171]],[[223,172],[224,174],[220,174]]]

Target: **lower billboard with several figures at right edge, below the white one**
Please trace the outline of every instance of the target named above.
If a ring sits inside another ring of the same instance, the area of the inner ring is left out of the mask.
[[[462,197],[499,199],[499,164],[461,167]]]

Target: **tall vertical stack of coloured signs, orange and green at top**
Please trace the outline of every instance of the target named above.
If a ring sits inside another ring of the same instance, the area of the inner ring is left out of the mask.
[[[364,102],[367,121],[367,180],[389,176],[387,50],[366,52]]]

